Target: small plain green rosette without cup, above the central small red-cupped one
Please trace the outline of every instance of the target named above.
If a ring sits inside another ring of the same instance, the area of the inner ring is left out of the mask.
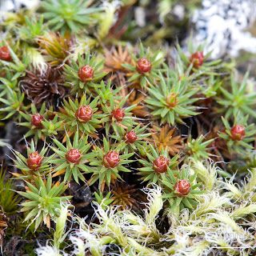
[[[120,101],[122,99],[122,96],[118,96],[119,91],[122,90],[122,86],[113,90],[111,88],[111,80],[107,84],[102,81],[100,86],[95,87],[94,90],[95,92],[92,93],[99,96],[98,102],[102,105],[110,104],[110,99],[113,99],[113,101]]]

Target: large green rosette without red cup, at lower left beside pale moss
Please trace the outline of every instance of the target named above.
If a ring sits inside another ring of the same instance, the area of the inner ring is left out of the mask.
[[[64,202],[68,202],[71,196],[61,196],[67,189],[65,182],[52,183],[52,176],[47,176],[47,181],[41,177],[34,178],[34,184],[26,182],[26,192],[17,191],[22,197],[27,198],[22,202],[22,212],[26,213],[24,222],[35,223],[34,230],[44,222],[50,228],[50,220],[59,216],[59,210]]]

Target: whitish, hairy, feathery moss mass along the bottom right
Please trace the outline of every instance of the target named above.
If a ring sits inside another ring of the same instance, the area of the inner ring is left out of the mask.
[[[93,256],[100,256],[106,254],[106,248],[113,244],[118,249],[113,252],[108,249],[108,255],[203,256],[216,251],[249,255],[256,246],[256,204],[249,200],[254,194],[255,171],[251,171],[241,187],[234,184],[234,177],[229,181],[217,178],[218,168],[211,162],[193,162],[194,171],[206,186],[206,193],[196,195],[199,203],[194,210],[185,208],[179,214],[164,212],[169,230],[163,232],[158,226],[162,210],[165,210],[162,188],[151,186],[144,190],[148,202],[141,215],[131,210],[117,211],[116,207],[104,207],[104,210],[98,205],[96,216],[99,224],[88,226],[85,219],[76,218],[80,228],[70,235],[74,248],[71,255],[86,256],[90,252]],[[238,204],[238,198],[242,204]],[[55,239],[66,235],[65,228],[61,228],[66,222],[64,213],[65,209],[57,221]],[[42,256],[62,255],[56,242],[54,247],[38,248],[37,253]]]

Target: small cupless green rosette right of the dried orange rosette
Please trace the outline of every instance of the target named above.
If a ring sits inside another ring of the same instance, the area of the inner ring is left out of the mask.
[[[192,138],[190,134],[185,144],[185,162],[190,157],[193,157],[195,161],[202,161],[203,159],[207,159],[212,155],[207,152],[209,150],[207,146],[214,141],[214,138],[211,138],[206,142],[203,142],[204,140],[205,137],[203,135],[200,135],[198,138]]]

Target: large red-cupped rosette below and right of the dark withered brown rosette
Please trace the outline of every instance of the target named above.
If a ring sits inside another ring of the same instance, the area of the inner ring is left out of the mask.
[[[80,101],[78,98],[74,101],[69,98],[68,102],[64,99],[63,108],[59,107],[61,113],[58,113],[58,117],[63,121],[62,130],[65,129],[69,136],[79,130],[80,135],[90,134],[97,138],[96,129],[102,127],[102,118],[106,117],[106,114],[97,112],[98,98],[99,96],[90,102],[90,98],[86,99],[86,94],[83,94]]]

